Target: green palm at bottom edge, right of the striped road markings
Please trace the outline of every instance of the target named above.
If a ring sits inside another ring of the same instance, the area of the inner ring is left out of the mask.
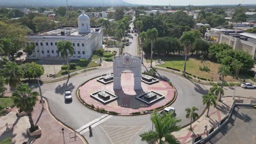
[[[171,134],[174,131],[179,131],[181,127],[177,123],[181,122],[173,116],[173,113],[163,113],[162,116],[157,111],[154,111],[151,115],[151,121],[155,125],[155,131],[149,130],[140,134],[142,141],[147,141],[148,143],[179,143],[178,140]],[[165,140],[163,140],[165,138]]]

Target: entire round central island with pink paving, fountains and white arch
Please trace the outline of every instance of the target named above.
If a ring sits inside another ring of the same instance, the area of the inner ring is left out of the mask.
[[[113,74],[108,72],[79,87],[80,100],[86,106],[115,115],[139,115],[174,101],[175,89],[168,82],[141,74],[140,58],[125,53],[114,63]]]

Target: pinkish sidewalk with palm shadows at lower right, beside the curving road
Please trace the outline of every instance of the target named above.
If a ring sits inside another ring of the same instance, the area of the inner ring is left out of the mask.
[[[190,125],[183,128],[182,130],[173,133],[176,139],[178,139],[182,144],[183,143],[193,143],[193,139],[196,136],[201,135],[202,139],[203,137],[206,137],[205,126],[207,125],[207,130],[210,130],[212,127],[216,128],[218,127],[218,122],[220,122],[224,117],[226,117],[229,114],[229,111],[231,110],[232,104],[234,100],[232,100],[232,97],[225,97],[222,98],[222,102],[219,102],[217,100],[216,107],[211,106],[209,111],[209,118],[206,117],[207,110],[202,114],[202,116],[197,119],[192,124],[193,131],[190,131]]]

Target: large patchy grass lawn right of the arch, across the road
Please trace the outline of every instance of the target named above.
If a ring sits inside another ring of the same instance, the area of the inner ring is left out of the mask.
[[[166,62],[163,65],[158,65],[159,67],[163,67],[163,68],[170,67],[174,69],[179,69],[181,71],[183,71],[184,69],[184,57],[157,57],[157,58],[162,59],[163,61]],[[153,61],[156,61],[157,58],[153,59]],[[147,59],[147,63],[150,63],[150,59]],[[211,71],[206,72],[199,69],[200,66],[203,67],[203,63],[201,63],[200,59],[188,58],[186,72],[192,75],[195,75],[196,77],[202,77],[210,80],[211,80],[211,76],[213,76],[213,81],[217,81],[218,69],[221,65],[219,63],[214,63],[211,61],[204,61],[204,63],[210,68]],[[247,79],[246,76],[243,76],[243,75],[241,75],[239,78]],[[238,80],[233,79],[232,76],[227,76],[226,81],[231,82],[231,81],[238,81]]]

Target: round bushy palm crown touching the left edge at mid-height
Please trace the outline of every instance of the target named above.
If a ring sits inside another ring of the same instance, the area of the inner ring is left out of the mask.
[[[7,62],[0,70],[0,74],[4,77],[6,85],[9,84],[11,88],[15,88],[19,85],[24,71],[22,71],[17,63]]]

